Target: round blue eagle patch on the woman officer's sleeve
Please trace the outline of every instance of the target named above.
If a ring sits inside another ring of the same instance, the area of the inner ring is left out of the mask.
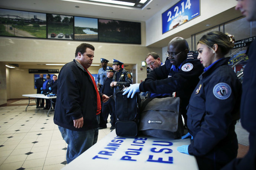
[[[218,83],[213,88],[213,94],[216,98],[224,100],[231,95],[231,88],[226,83]]]

